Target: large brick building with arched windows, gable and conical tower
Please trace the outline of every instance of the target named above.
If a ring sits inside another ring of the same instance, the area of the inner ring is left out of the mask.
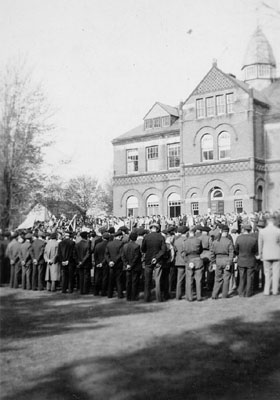
[[[260,28],[242,70],[214,61],[184,103],[155,103],[113,140],[114,215],[279,209],[280,80]]]

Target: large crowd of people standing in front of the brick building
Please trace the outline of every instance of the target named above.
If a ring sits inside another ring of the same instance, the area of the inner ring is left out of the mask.
[[[279,217],[103,217],[75,230],[52,218],[1,233],[1,284],[145,302],[277,295]]]

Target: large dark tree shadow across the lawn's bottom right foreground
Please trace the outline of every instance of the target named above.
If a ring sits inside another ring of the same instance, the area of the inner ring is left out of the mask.
[[[262,322],[228,319],[65,364],[7,399],[279,400],[279,338],[278,311]]]

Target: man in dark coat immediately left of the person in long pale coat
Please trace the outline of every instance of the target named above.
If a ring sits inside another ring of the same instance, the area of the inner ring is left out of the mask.
[[[31,244],[32,251],[32,290],[44,289],[44,278],[45,278],[45,259],[44,250],[46,242],[44,240],[44,233],[38,232],[36,239]]]

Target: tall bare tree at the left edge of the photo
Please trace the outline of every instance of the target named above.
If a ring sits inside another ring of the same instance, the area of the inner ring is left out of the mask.
[[[13,226],[34,191],[40,187],[42,148],[50,107],[39,85],[34,85],[25,63],[9,65],[0,77],[0,226]]]

